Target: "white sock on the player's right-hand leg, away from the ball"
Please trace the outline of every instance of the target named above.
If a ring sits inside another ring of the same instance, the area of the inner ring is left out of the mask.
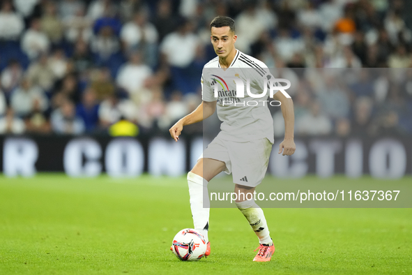
[[[254,202],[254,200],[245,200],[244,202],[236,202],[236,206],[241,210],[243,216],[249,221],[252,230],[259,238],[260,244],[272,245],[273,241],[270,239],[270,232],[264,211]]]

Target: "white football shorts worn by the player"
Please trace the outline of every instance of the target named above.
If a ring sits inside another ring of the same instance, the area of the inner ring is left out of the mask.
[[[264,179],[268,169],[272,144],[267,138],[249,142],[222,140],[219,136],[208,144],[199,158],[212,158],[226,164],[227,174],[233,182],[256,187]]]

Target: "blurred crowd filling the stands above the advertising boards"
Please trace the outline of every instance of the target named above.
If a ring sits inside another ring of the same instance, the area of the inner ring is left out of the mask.
[[[3,0],[0,134],[167,131],[200,103],[209,24],[228,15],[239,50],[298,83],[296,135],[409,135],[410,2]]]

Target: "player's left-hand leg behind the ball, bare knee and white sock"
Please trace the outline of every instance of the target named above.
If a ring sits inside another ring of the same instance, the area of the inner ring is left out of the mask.
[[[194,229],[199,230],[208,242],[210,202],[208,196],[208,181],[226,168],[223,161],[211,158],[199,158],[192,171],[188,173],[190,194],[190,209]]]

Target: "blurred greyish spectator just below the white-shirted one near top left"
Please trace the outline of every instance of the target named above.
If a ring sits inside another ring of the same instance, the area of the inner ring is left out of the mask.
[[[42,54],[38,61],[32,63],[27,69],[29,80],[36,86],[49,91],[52,89],[56,80],[56,75],[52,66],[49,64],[47,54]]]

